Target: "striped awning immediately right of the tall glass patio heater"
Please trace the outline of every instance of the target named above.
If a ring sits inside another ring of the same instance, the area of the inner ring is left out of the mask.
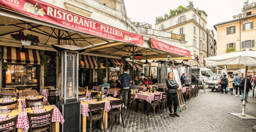
[[[84,57],[84,61],[81,58]],[[79,67],[80,68],[98,68],[97,61],[94,56],[89,55],[79,55]]]

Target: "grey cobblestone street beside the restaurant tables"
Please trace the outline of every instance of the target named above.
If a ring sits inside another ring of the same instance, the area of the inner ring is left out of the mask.
[[[114,123],[113,132],[251,132],[256,120],[240,119],[230,112],[241,112],[241,98],[235,95],[221,94],[220,92],[210,92],[204,94],[202,90],[198,97],[186,102],[186,110],[179,113],[180,118],[172,118],[169,112],[157,112],[153,116],[146,116],[139,111],[135,112],[135,104],[124,111],[125,128],[118,123]],[[256,117],[256,99],[248,98],[245,113]],[[110,121],[108,121],[110,132]],[[87,126],[87,130],[89,127]],[[94,132],[100,131],[93,128]]]

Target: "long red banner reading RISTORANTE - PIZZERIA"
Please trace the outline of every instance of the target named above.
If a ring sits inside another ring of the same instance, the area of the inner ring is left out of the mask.
[[[86,34],[143,45],[142,35],[108,26],[40,0],[1,0],[0,8]]]

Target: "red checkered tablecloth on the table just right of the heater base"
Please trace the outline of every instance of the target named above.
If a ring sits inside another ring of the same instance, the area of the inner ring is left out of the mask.
[[[104,102],[104,101],[102,101],[102,102]],[[113,108],[116,108],[116,107],[121,107],[121,105],[113,106]],[[125,105],[122,104],[122,107],[125,107]],[[111,110],[110,101],[105,102],[105,111],[109,112],[110,110]],[[85,105],[85,104],[81,103],[81,114],[83,116],[89,116],[89,113],[88,113],[89,111],[90,110],[89,110],[88,104]]]

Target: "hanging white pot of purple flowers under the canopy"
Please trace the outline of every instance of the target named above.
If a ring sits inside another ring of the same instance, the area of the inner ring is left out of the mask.
[[[30,46],[31,43],[39,43],[38,36],[32,35],[32,34],[24,34],[24,32],[19,32],[16,34],[11,34],[11,37],[15,40],[21,41],[23,46]]]

